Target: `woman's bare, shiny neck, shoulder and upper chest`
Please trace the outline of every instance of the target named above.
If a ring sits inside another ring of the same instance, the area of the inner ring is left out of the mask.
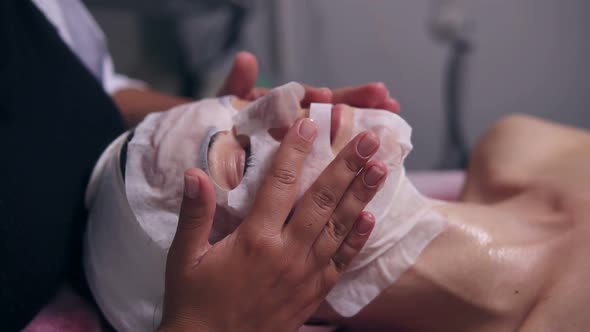
[[[590,134],[513,116],[472,152],[450,226],[358,316],[366,331],[590,330]]]

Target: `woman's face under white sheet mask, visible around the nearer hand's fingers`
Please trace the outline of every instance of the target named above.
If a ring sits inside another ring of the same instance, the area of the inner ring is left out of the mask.
[[[237,227],[278,146],[272,140],[280,141],[285,133],[285,128],[276,127],[288,127],[297,118],[309,116],[310,111],[299,106],[302,88],[296,87],[277,88],[270,98],[258,99],[255,104],[233,97],[206,99],[146,117],[128,144],[125,170],[127,198],[142,227],[154,228],[149,232],[154,238],[171,241],[173,227],[168,234],[158,225],[177,222],[182,175],[192,167],[207,171],[216,185],[214,226],[219,227],[214,227],[213,238],[220,239]],[[289,94],[293,90],[296,93]],[[394,114],[379,110],[359,113],[345,105],[331,109],[318,105],[311,113],[318,124],[318,138],[306,161],[309,167],[302,170],[305,176],[298,195],[309,188],[310,181],[319,175],[316,173],[327,166],[352,135],[362,130],[371,130],[379,137],[381,147],[375,158],[390,171],[399,170],[411,149],[411,128]],[[236,136],[236,132],[251,136]],[[250,143],[254,163],[248,172]],[[395,181],[391,183],[395,189]],[[380,193],[388,194],[387,188]]]

